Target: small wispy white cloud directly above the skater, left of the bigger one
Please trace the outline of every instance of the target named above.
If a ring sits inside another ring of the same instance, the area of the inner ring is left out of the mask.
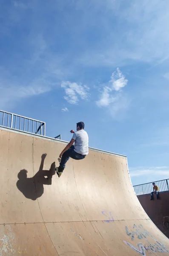
[[[80,99],[87,100],[89,98],[89,87],[86,85],[63,81],[61,87],[64,88],[66,93],[64,99],[70,104],[78,104]]]

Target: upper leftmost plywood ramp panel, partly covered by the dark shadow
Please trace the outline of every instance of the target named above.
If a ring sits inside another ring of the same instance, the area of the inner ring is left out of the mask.
[[[34,185],[33,137],[0,130],[0,173],[0,223],[42,221]]]

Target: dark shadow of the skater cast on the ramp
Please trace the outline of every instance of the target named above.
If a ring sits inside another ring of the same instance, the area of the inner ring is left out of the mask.
[[[41,157],[39,171],[31,178],[27,177],[27,170],[20,170],[17,177],[17,188],[26,198],[36,200],[41,197],[44,192],[43,185],[52,185],[52,176],[55,175],[55,162],[51,164],[49,170],[43,170],[46,154]],[[46,177],[45,177],[46,176]]]

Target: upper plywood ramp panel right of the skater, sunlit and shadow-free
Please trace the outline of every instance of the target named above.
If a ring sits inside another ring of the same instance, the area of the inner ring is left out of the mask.
[[[133,192],[126,158],[90,151],[84,160],[74,161],[73,166],[89,220],[148,218]],[[139,207],[136,217],[135,209]]]

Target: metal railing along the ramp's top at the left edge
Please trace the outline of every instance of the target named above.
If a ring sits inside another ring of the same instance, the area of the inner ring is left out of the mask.
[[[45,136],[45,122],[0,110],[0,125]]]

